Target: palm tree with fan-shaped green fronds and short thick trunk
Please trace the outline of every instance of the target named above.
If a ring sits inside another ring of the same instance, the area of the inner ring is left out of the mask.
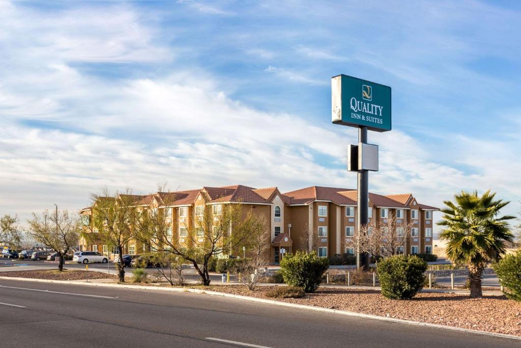
[[[478,192],[462,191],[454,202],[444,201],[444,214],[438,225],[445,226],[440,239],[447,241],[445,252],[457,266],[468,266],[470,297],[481,297],[481,277],[487,263],[496,262],[505,254],[505,242],[513,241],[507,220],[499,211],[510,202],[494,200],[490,190],[481,197]]]

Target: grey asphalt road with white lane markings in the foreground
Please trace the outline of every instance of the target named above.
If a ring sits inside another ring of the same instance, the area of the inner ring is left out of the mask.
[[[488,335],[189,293],[0,280],[0,297],[4,346],[520,346]]]

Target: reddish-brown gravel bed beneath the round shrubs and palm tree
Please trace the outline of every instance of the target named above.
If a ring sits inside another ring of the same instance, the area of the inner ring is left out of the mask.
[[[254,292],[244,286],[214,285],[208,288],[268,298],[265,294],[273,287],[259,286]],[[411,300],[398,301],[384,298],[375,290],[329,287],[306,294],[303,298],[278,301],[521,336],[521,303],[504,296],[469,298],[458,294],[420,293]]]

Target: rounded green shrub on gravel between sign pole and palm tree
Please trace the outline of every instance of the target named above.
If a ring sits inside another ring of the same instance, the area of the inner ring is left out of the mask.
[[[427,262],[416,256],[396,255],[378,263],[382,295],[390,299],[410,299],[424,287]]]

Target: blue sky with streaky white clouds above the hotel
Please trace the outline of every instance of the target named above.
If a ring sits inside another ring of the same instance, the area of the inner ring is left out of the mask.
[[[392,87],[378,193],[519,210],[516,2],[0,0],[0,213],[241,183],[354,188],[330,78]]]

